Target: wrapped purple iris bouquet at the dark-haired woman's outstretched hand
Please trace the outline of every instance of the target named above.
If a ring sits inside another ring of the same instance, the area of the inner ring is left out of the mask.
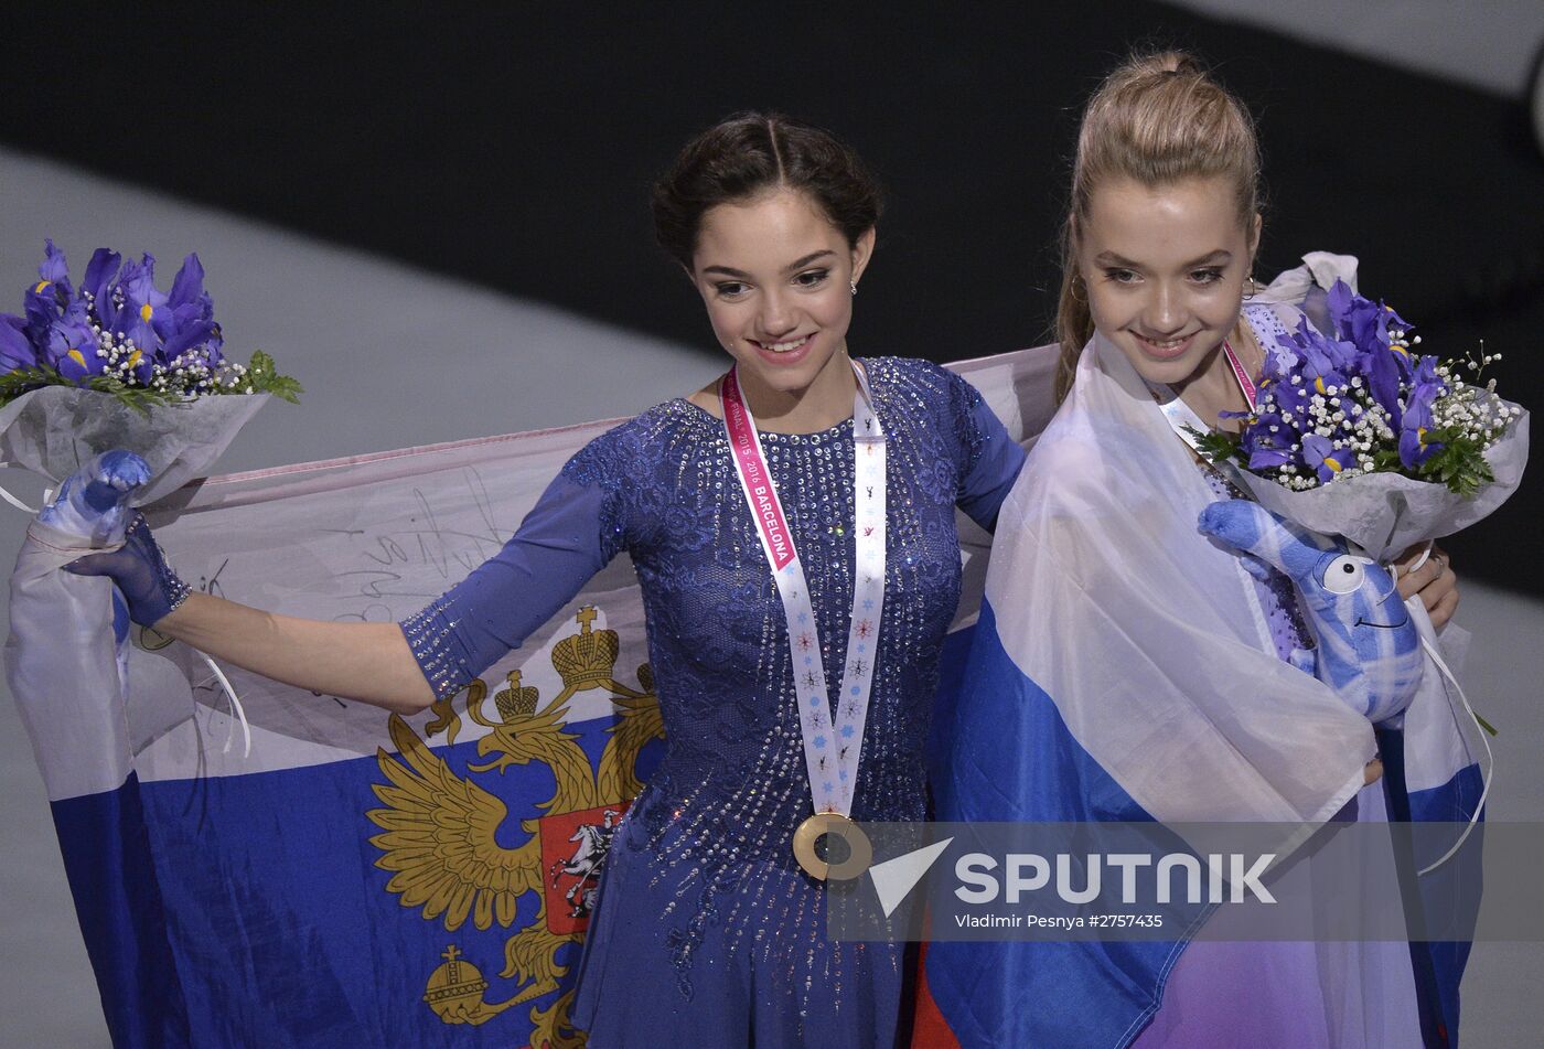
[[[266,354],[224,355],[198,255],[170,292],[154,264],[97,249],[76,286],[46,243],[23,315],[0,314],[0,460],[60,482],[127,448],[150,463],[145,505],[205,473],[269,395],[296,399]]]

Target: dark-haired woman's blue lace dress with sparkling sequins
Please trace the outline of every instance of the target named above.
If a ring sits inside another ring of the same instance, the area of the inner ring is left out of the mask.
[[[885,610],[854,817],[925,817],[923,745],[960,592],[956,505],[990,527],[1024,454],[980,395],[916,360],[868,362],[888,437]],[[828,681],[852,601],[852,423],[761,434],[814,596]],[[665,757],[616,831],[579,976],[593,1046],[891,1046],[896,945],[831,942],[794,861],[811,814],[783,607],[723,422],[673,400],[565,467],[505,550],[403,624],[442,695],[616,553],[636,565]]]

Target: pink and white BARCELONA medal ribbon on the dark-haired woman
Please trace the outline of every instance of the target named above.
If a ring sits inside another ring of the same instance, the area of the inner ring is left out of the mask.
[[[852,372],[858,383],[852,399],[852,502],[857,556],[852,572],[848,661],[841,672],[841,692],[837,695],[834,718],[809,584],[777,487],[767,471],[755,419],[740,391],[733,368],[718,386],[724,405],[729,453],[750,516],[757,522],[761,550],[772,567],[772,581],[787,620],[794,694],[798,697],[798,725],[804,738],[811,800],[817,813],[841,816],[852,814],[863,725],[868,718],[869,689],[879,655],[879,626],[885,610],[885,431],[874,414],[874,395],[868,377],[855,363]]]

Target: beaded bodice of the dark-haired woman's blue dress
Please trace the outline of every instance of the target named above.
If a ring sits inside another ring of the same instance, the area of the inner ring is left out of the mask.
[[[809,579],[818,650],[791,650],[721,420],[669,402],[565,468],[571,480],[611,493],[602,533],[638,569],[667,755],[636,819],[662,837],[687,834],[710,850],[792,867],[789,837],[811,813],[794,674],[821,660],[837,683],[849,655],[877,660],[854,816],[923,816],[922,748],[960,587],[954,504],[977,450],[960,440],[968,411],[939,411],[951,403],[951,389],[933,388],[950,382],[945,372],[882,360],[871,375],[889,440],[889,505],[885,612],[863,652],[846,652],[851,420],[815,434],[761,434]]]

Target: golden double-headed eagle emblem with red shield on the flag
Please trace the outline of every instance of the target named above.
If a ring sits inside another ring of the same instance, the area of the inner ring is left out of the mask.
[[[615,680],[619,652],[615,630],[594,630],[596,610],[581,609],[579,632],[553,647],[553,667],[564,689],[545,704],[537,689],[522,686],[520,670],[511,670],[505,687],[493,695],[497,717],[488,717],[488,686],[472,681],[466,691],[434,704],[435,720],[425,737],[445,732],[454,743],[462,729],[455,701],[465,697],[465,717],[489,729],[477,740],[483,762],[468,763],[468,772],[503,772],[511,765],[545,765],[557,791],[536,805],[540,814],[519,820],[525,840],[513,848],[508,806],[471,776],[460,777],[418,738],[401,717],[391,717],[397,754],[377,751],[388,783],[374,785],[386,808],[371,810],[381,828],[371,837],[381,856],[375,865],[392,871],[388,891],[401,905],[422,910],[429,921],[443,921],[448,932],[471,921],[486,930],[497,922],[516,922],[520,898],[536,893],[534,921],[505,942],[500,976],[516,981],[516,993],[497,1003],[483,1001],[488,981],[451,944],[445,964],[429,976],[425,1003],[445,1023],[482,1024],[500,1012],[559,989],[567,967],[556,953],[584,933],[594,884],[604,864],[615,819],[641,789],[638,755],[652,738],[664,738],[664,723],[648,664],[638,667],[638,687]],[[565,731],[568,701],[590,691],[607,691],[616,708],[616,723],[598,766]],[[576,845],[577,844],[577,845]],[[565,890],[567,884],[567,890]],[[573,992],[547,1009],[533,1007],[530,1044],[562,1049],[582,1046],[568,1010]]]

